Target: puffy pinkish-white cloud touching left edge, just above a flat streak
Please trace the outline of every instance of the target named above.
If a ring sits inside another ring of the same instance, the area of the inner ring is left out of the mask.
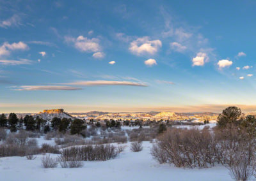
[[[12,51],[15,50],[27,50],[29,47],[26,43],[19,41],[18,43],[8,43],[4,42],[3,45],[0,47],[0,57],[4,55],[10,55]]]

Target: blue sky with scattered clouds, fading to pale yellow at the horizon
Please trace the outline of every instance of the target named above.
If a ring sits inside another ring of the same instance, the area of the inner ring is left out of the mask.
[[[256,110],[256,1],[0,1],[0,112]]]

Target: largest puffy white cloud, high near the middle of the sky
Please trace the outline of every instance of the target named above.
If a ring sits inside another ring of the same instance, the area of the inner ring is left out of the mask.
[[[135,55],[154,55],[161,47],[160,40],[149,40],[148,36],[144,36],[132,41],[129,50]]]

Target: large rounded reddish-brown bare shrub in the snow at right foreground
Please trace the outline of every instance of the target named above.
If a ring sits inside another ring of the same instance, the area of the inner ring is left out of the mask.
[[[208,167],[216,161],[216,141],[207,130],[168,129],[152,148],[152,156],[159,163],[177,167]]]

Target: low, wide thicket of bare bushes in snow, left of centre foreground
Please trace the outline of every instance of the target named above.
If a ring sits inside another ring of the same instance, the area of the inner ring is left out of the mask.
[[[64,148],[61,156],[66,161],[106,161],[118,155],[113,145],[88,145],[83,147]]]

